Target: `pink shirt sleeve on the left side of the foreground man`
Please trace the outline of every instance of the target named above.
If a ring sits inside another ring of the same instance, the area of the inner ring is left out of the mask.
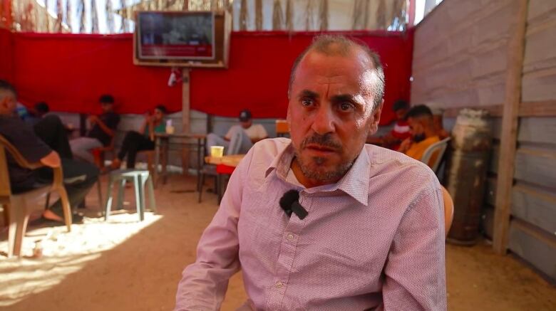
[[[235,169],[212,222],[197,246],[197,260],[187,266],[177,286],[175,310],[220,310],[228,280],[240,270],[237,221],[250,154]]]

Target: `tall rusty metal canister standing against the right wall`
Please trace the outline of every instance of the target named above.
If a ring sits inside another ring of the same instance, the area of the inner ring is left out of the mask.
[[[485,110],[461,110],[452,130],[446,189],[454,203],[448,241],[472,245],[478,238],[492,137]]]

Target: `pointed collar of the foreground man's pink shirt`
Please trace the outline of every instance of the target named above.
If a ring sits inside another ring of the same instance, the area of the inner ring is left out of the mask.
[[[294,159],[294,147],[290,142],[286,148],[279,152],[272,163],[264,171],[266,178],[272,171],[276,171],[280,179],[285,180],[287,173]],[[361,149],[359,157],[355,160],[349,171],[336,184],[307,189],[308,193],[316,193],[320,191],[335,191],[337,189],[344,191],[346,194],[356,199],[359,203],[367,206],[369,204],[369,179],[370,179],[371,161],[365,147]]]

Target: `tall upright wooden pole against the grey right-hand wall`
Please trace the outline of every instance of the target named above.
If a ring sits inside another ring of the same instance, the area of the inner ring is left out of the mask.
[[[505,80],[505,101],[502,115],[502,137],[498,162],[498,181],[494,215],[493,248],[504,254],[508,246],[510,206],[513,187],[515,150],[518,140],[518,112],[521,100],[521,78],[527,26],[527,0],[515,0],[510,21],[508,66]]]

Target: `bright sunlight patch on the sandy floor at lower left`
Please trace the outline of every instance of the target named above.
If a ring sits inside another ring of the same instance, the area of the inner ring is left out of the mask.
[[[135,213],[113,214],[108,222],[104,218],[85,218],[83,224],[72,225],[70,233],[65,226],[28,231],[21,259],[0,257],[0,307],[61,283],[67,275],[100,258],[103,251],[115,248],[160,218],[147,212],[145,220],[139,222]],[[42,255],[34,257],[37,241]],[[7,249],[7,241],[1,241],[0,251]]]

